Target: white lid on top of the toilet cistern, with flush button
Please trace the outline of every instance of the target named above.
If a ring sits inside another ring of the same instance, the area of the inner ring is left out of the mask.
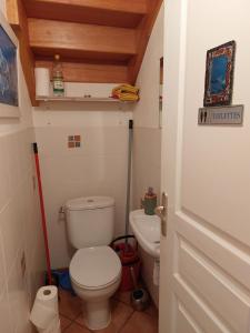
[[[111,196],[82,196],[66,202],[66,208],[70,211],[94,210],[113,205],[114,199]]]

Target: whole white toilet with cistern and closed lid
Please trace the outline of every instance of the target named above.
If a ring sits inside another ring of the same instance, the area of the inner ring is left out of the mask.
[[[108,245],[113,238],[114,200],[89,196],[66,203],[67,231],[77,249],[69,268],[72,287],[82,300],[86,324],[90,330],[109,325],[109,299],[121,281],[121,262]]]

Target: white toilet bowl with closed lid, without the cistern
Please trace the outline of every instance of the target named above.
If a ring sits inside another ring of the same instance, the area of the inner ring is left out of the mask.
[[[70,263],[70,279],[76,294],[84,303],[84,320],[90,330],[109,325],[109,299],[121,281],[121,262],[109,246],[80,249]]]

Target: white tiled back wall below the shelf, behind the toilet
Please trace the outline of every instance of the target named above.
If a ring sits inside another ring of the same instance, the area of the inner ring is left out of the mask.
[[[81,148],[69,149],[68,135]],[[116,200],[116,235],[124,233],[128,127],[41,127],[36,129],[53,268],[68,266],[72,252],[59,209],[67,200],[110,195]]]

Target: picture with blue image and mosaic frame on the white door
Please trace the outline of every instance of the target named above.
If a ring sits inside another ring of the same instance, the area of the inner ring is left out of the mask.
[[[204,80],[204,107],[231,104],[234,54],[234,41],[208,50]]]

